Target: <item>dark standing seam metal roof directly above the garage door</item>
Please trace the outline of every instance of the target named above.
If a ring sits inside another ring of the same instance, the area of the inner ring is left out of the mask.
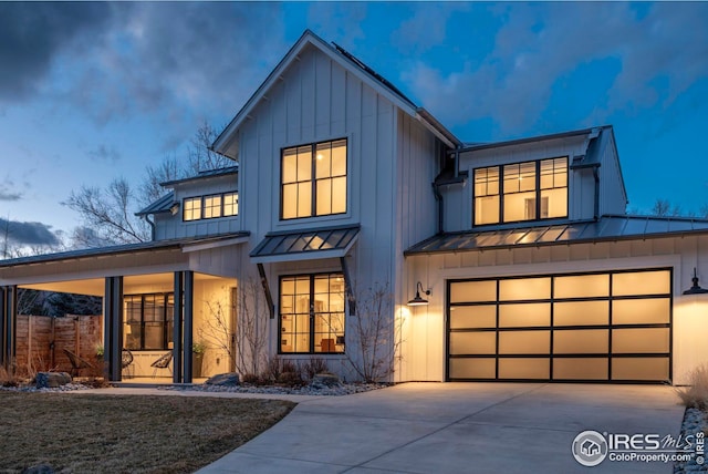
[[[430,237],[404,255],[481,251],[549,245],[637,240],[708,234],[708,220],[681,217],[603,216],[600,220],[447,233]]]

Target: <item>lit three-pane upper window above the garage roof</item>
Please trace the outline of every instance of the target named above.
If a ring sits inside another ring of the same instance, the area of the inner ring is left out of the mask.
[[[475,225],[568,217],[568,156],[475,169]]]

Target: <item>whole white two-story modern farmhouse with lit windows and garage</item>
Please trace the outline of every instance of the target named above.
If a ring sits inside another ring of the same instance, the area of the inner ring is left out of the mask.
[[[212,148],[235,166],[165,183],[153,241],[0,261],[3,363],[18,288],[103,297],[115,381],[126,349],[135,380],[164,354],[174,382],[254,356],[354,379],[374,287],[393,381],[685,383],[708,361],[708,220],[627,215],[612,126],[467,144],[305,31]]]

